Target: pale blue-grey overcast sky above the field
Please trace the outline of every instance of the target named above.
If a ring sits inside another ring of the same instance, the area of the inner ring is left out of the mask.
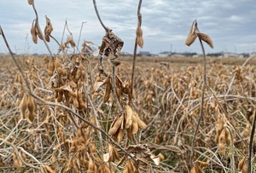
[[[67,19],[69,30],[78,42],[80,26],[87,21],[81,41],[102,43],[105,32],[96,18],[92,0],[34,0],[39,23],[44,30],[47,15],[52,22],[52,35],[61,41]],[[43,41],[32,42],[30,28],[35,18],[27,0],[0,0],[0,25],[15,53],[47,53]],[[137,28],[137,0],[97,0],[103,23],[124,41],[123,51],[132,53]],[[214,49],[206,45],[206,51],[251,52],[256,50],[256,1],[255,0],[144,0],[143,49],[138,51],[197,52],[199,41],[190,47],[185,39],[193,20],[197,20],[201,32],[212,37]],[[65,38],[68,33],[65,33]],[[54,53],[58,46],[49,43]],[[0,53],[7,49],[0,39]]]

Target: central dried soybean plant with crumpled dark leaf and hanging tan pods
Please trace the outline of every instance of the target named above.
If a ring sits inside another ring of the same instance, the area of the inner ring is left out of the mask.
[[[100,17],[100,14],[96,7],[96,0],[93,0],[94,7],[96,10],[96,15],[98,20],[100,21],[102,27],[105,29],[106,35],[102,37],[102,45],[100,47],[100,61],[98,64],[99,69],[99,77],[104,75],[105,81],[102,85],[106,85],[105,95],[103,97],[104,102],[110,101],[110,96],[113,96],[113,106],[117,107],[116,117],[114,118],[112,124],[110,125],[110,129],[108,130],[108,134],[113,137],[114,140],[122,143],[125,132],[126,132],[126,142],[125,147],[127,147],[127,151],[134,155],[134,158],[137,160],[134,163],[127,156],[124,156],[121,159],[119,164],[125,162],[125,170],[124,172],[148,172],[153,171],[148,161],[153,161],[155,164],[160,164],[160,156],[153,156],[153,154],[149,151],[147,145],[137,144],[136,146],[129,145],[128,141],[132,141],[136,143],[135,135],[139,130],[145,130],[147,125],[141,120],[137,112],[132,108],[132,80],[134,78],[134,68],[136,58],[133,60],[133,72],[131,81],[127,80],[125,83],[119,78],[116,74],[116,68],[119,66],[120,62],[118,61],[120,51],[123,47],[123,41],[117,37],[111,29],[106,27]],[[142,25],[142,15],[140,14],[140,9],[142,5],[142,0],[139,1],[138,9],[137,9],[137,17],[138,17],[138,26],[137,26],[137,37],[135,43],[135,54],[137,44],[143,47],[143,32],[141,29]],[[108,62],[112,66],[112,75],[108,75],[105,69],[102,66],[103,58],[107,57]],[[99,82],[101,80],[98,80]],[[127,141],[128,140],[128,141]],[[112,147],[111,147],[112,148]],[[132,149],[130,149],[132,148]],[[114,149],[113,149],[114,150]],[[110,151],[110,149],[108,150]],[[104,155],[106,160],[113,160],[110,157],[113,156],[111,152]],[[156,161],[157,160],[157,161]],[[119,165],[118,164],[118,165]]]

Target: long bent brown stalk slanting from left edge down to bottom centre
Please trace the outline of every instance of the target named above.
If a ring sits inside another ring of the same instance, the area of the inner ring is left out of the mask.
[[[116,147],[119,147],[119,149],[121,151],[123,151],[125,154],[127,154],[133,161],[134,163],[137,164],[137,160],[131,155],[131,153],[128,153],[123,147],[119,146],[119,144],[114,141],[112,139],[111,136],[108,136],[108,133],[105,132],[104,130],[100,129],[98,126],[94,125],[94,124],[91,124],[88,120],[82,118],[78,113],[74,112],[70,107],[66,107],[65,105],[62,105],[60,103],[55,103],[55,102],[51,102],[51,101],[44,101],[43,98],[39,97],[38,95],[35,95],[34,92],[32,91],[32,88],[31,86],[29,85],[28,83],[28,80],[24,74],[24,72],[22,71],[22,69],[20,68],[20,65],[18,64],[18,62],[15,60],[15,55],[13,54],[13,52],[11,51],[11,49],[9,48],[9,43],[7,42],[7,39],[6,37],[4,36],[4,33],[3,33],[3,30],[2,30],[2,27],[0,26],[0,33],[2,34],[2,37],[3,37],[3,40],[4,40],[4,43],[6,44],[7,48],[9,49],[9,53],[13,59],[13,61],[15,62],[15,66],[17,66],[20,74],[21,74],[21,77],[25,80],[25,83],[26,83],[26,86],[28,88],[28,91],[30,93],[30,95],[32,95],[32,97],[34,97],[35,99],[37,99],[38,101],[42,101],[43,104],[45,105],[49,105],[49,106],[53,106],[53,107],[61,107],[61,108],[64,108],[66,109],[68,112],[71,112],[72,115],[76,116],[77,118],[79,118],[81,121],[83,121],[85,124],[88,124],[90,125],[92,128],[96,129],[96,130],[99,130],[102,132],[102,134],[106,137],[108,137],[108,140],[113,143],[114,146]],[[73,120],[73,119],[72,119]],[[75,122],[73,122],[75,124]]]

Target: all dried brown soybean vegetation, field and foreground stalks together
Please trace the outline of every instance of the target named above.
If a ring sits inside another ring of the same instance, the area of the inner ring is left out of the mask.
[[[55,39],[54,25],[46,16],[41,32],[35,5],[28,3],[36,14],[32,41],[37,43],[39,37],[47,47],[45,41]],[[141,3],[136,48],[143,46]],[[44,59],[14,57],[10,51],[15,63],[1,57],[0,170],[247,172],[247,158],[256,149],[255,141],[250,144],[256,115],[255,66],[243,61],[225,66],[223,60],[208,59],[206,71],[201,59],[131,61],[119,57],[122,40],[102,26],[106,33],[98,58],[84,54],[90,41],[76,52],[68,28],[60,55],[49,51]],[[213,46],[212,40],[206,42]],[[72,55],[67,55],[68,45]],[[255,170],[255,156],[251,158]]]

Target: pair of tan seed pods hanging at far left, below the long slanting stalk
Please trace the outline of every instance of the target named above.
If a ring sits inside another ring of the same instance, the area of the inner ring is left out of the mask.
[[[26,113],[27,110],[27,113]],[[23,95],[20,101],[20,115],[21,118],[26,119],[30,124],[34,120],[35,103],[32,95]]]

